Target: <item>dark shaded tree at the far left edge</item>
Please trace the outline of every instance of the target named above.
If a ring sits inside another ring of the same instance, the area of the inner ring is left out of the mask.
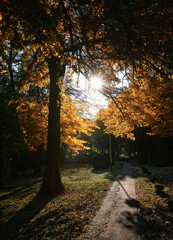
[[[16,110],[9,104],[18,95],[23,68],[20,49],[15,48],[13,41],[1,44],[0,53],[0,175],[2,183],[2,169],[5,161],[9,167],[9,158],[12,159],[13,167],[11,166],[11,174],[14,176],[16,174],[17,155],[24,148],[23,136],[18,124]]]

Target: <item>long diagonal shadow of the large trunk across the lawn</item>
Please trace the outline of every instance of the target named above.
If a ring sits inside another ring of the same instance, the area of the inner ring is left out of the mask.
[[[52,195],[38,193],[26,207],[16,212],[8,222],[1,222],[0,239],[16,239],[21,227],[33,219],[52,199]]]

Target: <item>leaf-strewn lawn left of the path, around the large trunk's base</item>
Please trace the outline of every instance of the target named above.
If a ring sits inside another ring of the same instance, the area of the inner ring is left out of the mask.
[[[66,190],[55,198],[37,195],[41,178],[0,192],[0,239],[78,239],[102,204],[112,176],[73,165],[62,169],[62,181]]]

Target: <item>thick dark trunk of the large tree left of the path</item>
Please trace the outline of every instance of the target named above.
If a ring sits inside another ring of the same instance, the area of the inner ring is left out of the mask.
[[[47,139],[47,163],[41,191],[54,195],[64,190],[60,176],[60,83],[64,78],[65,66],[60,60],[51,57],[47,59],[50,75],[50,97]]]

